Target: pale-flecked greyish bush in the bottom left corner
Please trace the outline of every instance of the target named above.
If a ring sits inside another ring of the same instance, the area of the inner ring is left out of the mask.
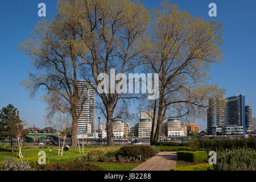
[[[5,159],[5,162],[1,164],[2,171],[30,171],[30,164],[26,161],[21,161],[19,159]]]

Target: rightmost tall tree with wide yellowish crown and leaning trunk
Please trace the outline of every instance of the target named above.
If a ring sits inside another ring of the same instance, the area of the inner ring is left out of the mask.
[[[151,47],[146,56],[152,70],[159,74],[159,98],[156,133],[151,142],[160,140],[167,113],[176,117],[207,107],[207,100],[224,90],[208,84],[209,67],[223,59],[221,24],[193,18],[187,11],[164,1],[154,10]],[[172,115],[174,116],[174,115]]]

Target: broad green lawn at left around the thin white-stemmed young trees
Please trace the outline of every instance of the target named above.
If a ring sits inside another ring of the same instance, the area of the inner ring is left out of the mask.
[[[50,151],[51,150],[51,151]],[[63,156],[58,156],[58,149],[57,148],[33,148],[33,149],[23,149],[22,155],[24,158],[37,156],[39,151],[45,151],[46,157],[50,164],[53,163],[68,163],[72,160],[75,160],[77,157],[84,158],[86,154],[93,150],[93,148],[85,148],[85,154],[79,154],[78,148],[71,148],[71,150],[64,151]],[[2,163],[6,158],[19,158],[18,151],[9,152],[0,150],[0,163]]]

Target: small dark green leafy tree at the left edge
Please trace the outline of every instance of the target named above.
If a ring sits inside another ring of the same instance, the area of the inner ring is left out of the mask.
[[[13,144],[16,137],[16,127],[22,121],[19,118],[19,111],[9,104],[0,110],[0,135],[2,138],[9,137],[11,152],[14,152]]]

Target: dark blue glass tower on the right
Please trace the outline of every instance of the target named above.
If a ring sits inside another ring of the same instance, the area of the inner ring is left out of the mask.
[[[243,126],[243,134],[246,134],[245,95],[227,98],[226,126]]]

